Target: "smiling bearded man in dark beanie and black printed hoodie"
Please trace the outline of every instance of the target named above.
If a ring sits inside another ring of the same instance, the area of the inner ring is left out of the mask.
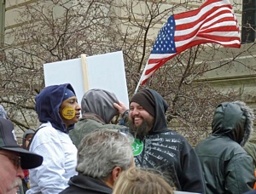
[[[205,193],[201,163],[189,142],[167,127],[167,108],[166,100],[152,89],[132,96],[129,131],[136,138],[135,163],[139,168],[156,168],[177,191]]]

